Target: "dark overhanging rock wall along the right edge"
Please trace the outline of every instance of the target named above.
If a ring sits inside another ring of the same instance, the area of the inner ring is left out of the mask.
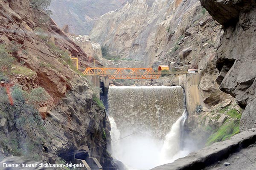
[[[256,127],[256,3],[253,0],[200,1],[224,30],[216,52],[219,88],[235,97],[243,109],[241,130]]]

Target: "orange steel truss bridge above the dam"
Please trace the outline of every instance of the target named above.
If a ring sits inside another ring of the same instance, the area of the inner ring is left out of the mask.
[[[158,79],[153,68],[86,68],[87,76],[107,76],[109,79]]]

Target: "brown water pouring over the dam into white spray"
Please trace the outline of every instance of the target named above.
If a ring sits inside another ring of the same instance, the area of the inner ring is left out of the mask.
[[[151,169],[183,156],[185,110],[181,87],[110,87],[112,156],[129,170]]]

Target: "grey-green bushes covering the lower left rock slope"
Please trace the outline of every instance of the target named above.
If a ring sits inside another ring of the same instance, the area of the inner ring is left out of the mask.
[[[0,131],[0,147],[6,156],[29,156],[34,160],[40,160],[43,155],[42,145],[47,140],[46,132],[35,106],[26,101],[44,102],[47,96],[45,91],[39,88],[28,94],[15,86],[12,91],[13,106],[9,104],[3,89],[0,89],[0,95],[0,119],[6,119],[8,122]]]

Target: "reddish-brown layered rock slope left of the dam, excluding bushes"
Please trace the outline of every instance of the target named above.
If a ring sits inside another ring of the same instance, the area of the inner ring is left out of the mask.
[[[58,157],[70,161],[79,147],[88,146],[103,166],[112,167],[105,144],[110,140],[108,118],[87,80],[70,62],[70,56],[79,57],[81,68],[90,65],[90,59],[52,20],[42,23],[44,18],[26,0],[0,0],[0,43],[12,45],[17,66],[1,85],[18,83],[28,92],[43,87],[50,96],[48,108],[44,106],[47,119],[22,125],[12,116],[12,105],[0,88],[0,158],[25,155],[51,163]],[[21,111],[20,117],[31,112]]]

